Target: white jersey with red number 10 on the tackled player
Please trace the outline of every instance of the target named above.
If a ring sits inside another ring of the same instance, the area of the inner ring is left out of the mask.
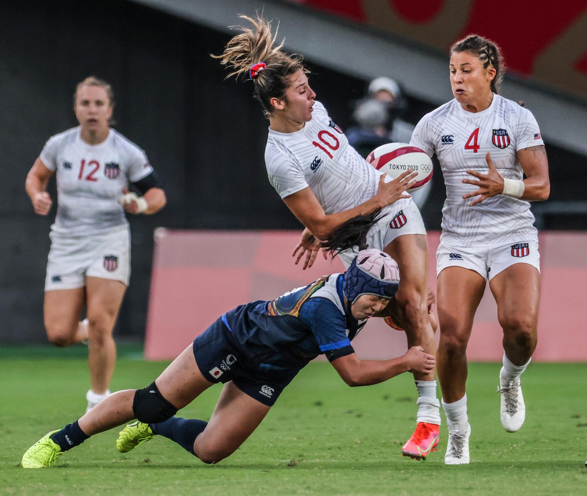
[[[375,196],[381,175],[349,145],[319,102],[314,103],[312,120],[301,130],[279,133],[269,129],[265,165],[269,182],[282,199],[309,186],[327,215],[352,209]],[[406,205],[411,200],[398,201]]]

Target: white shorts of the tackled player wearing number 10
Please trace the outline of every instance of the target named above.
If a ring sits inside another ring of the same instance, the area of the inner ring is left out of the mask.
[[[426,227],[424,227],[424,222],[416,203],[411,199],[407,202],[399,200],[397,203],[400,205],[380,219],[367,233],[369,248],[383,251],[389,243],[404,234],[424,234],[426,236]],[[392,206],[394,205],[395,203]],[[358,253],[359,249],[357,247],[352,250],[346,250],[339,253],[340,260],[345,264],[345,267],[349,267]]]

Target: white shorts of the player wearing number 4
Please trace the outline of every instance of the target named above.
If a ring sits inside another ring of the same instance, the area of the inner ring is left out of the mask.
[[[490,281],[515,263],[528,263],[540,272],[538,241],[516,241],[501,246],[464,247],[440,242],[436,250],[436,275],[446,267],[471,269]]]

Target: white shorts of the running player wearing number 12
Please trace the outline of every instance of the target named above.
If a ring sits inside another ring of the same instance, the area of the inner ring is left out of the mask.
[[[94,236],[68,237],[51,232],[45,291],[86,285],[86,276],[129,285],[130,231],[121,226]]]

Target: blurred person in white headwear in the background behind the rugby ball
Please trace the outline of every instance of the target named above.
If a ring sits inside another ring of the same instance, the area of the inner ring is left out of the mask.
[[[366,98],[357,102],[353,113],[357,125],[346,132],[350,145],[366,157],[371,150],[385,143],[409,143],[414,126],[402,119],[406,109],[406,99],[393,79],[373,79]],[[431,184],[432,180],[411,193],[419,209],[426,203]]]

